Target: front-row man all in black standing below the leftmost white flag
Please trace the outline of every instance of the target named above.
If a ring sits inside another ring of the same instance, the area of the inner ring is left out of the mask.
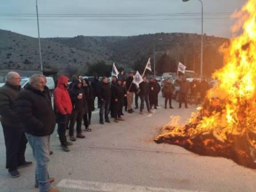
[[[122,80],[118,79],[117,84],[114,89],[114,102],[115,102],[115,111],[114,111],[114,122],[118,123],[118,121],[124,121],[121,117],[122,109],[124,106],[124,96],[125,88],[122,86]]]

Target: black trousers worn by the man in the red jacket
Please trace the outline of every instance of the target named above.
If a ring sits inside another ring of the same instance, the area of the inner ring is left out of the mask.
[[[60,113],[56,114],[57,123],[58,123],[58,134],[61,145],[66,145],[67,138],[66,138],[66,130],[68,127],[68,114],[61,115]]]

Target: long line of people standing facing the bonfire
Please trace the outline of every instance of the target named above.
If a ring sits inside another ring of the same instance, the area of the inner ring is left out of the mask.
[[[32,162],[25,160],[25,150],[27,142],[32,148],[33,156],[36,159],[35,187],[40,192],[56,192],[58,189],[51,188],[50,183],[54,178],[49,176],[47,164],[50,150],[50,135],[53,133],[56,123],[61,149],[70,151],[68,146],[73,145],[77,138],[84,139],[82,133],[82,122],[84,130],[92,131],[91,124],[92,111],[95,110],[94,101],[98,98],[97,107],[99,110],[99,123],[110,123],[110,117],[115,123],[124,121],[124,112],[133,113],[133,97],[135,95],[135,108],[138,106],[140,98],[140,114],[143,114],[144,101],[148,113],[153,113],[152,108],[158,107],[158,94],[161,91],[156,79],[146,77],[140,84],[133,83],[133,73],[129,73],[127,78],[112,77],[108,82],[107,77],[103,77],[102,82],[98,76],[92,82],[83,79],[82,76],[73,76],[72,82],[68,83],[66,76],[60,76],[57,86],[53,92],[53,105],[46,78],[43,75],[35,74],[30,77],[29,84],[20,87],[20,75],[16,72],[9,72],[7,81],[0,88],[0,115],[4,132],[6,146],[6,168],[11,177],[19,177],[18,169],[29,166]],[[185,78],[180,82],[180,103],[185,103],[187,108],[187,94],[191,89],[192,97],[200,92],[204,97],[208,89],[208,84],[203,80],[198,83],[196,79],[189,84]],[[171,79],[168,79],[162,89],[165,97],[164,108],[172,107],[172,92],[174,86]],[[196,98],[197,104],[197,98]],[[104,119],[103,119],[104,115]],[[74,134],[76,124],[76,134]],[[69,140],[66,131],[69,130]]]

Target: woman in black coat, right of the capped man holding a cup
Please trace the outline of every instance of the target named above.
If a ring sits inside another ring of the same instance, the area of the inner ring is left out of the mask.
[[[84,90],[84,95],[87,101],[87,113],[84,113],[84,116],[83,116],[85,131],[92,131],[89,128],[89,125],[91,124],[92,111],[94,111],[94,99],[93,99],[93,88],[90,85],[90,82],[88,81],[88,79],[83,80],[82,88]]]

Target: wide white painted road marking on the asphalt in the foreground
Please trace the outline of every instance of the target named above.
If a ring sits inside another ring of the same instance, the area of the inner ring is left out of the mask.
[[[83,180],[69,180],[63,179],[57,187],[82,189],[88,191],[102,191],[102,192],[199,192],[197,190],[183,190],[171,188],[157,188],[137,185],[125,185],[118,183],[103,183],[96,181],[83,181]],[[201,191],[202,192],[202,191]]]

